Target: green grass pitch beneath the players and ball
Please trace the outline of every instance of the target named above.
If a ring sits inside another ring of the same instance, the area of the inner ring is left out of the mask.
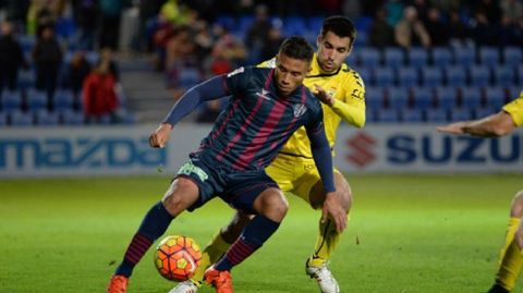
[[[330,266],[342,292],[485,292],[491,284],[521,175],[349,181],[351,220]],[[0,181],[0,292],[105,292],[142,217],[168,184],[166,176]],[[238,292],[318,292],[304,263],[319,213],[292,196],[290,205],[277,234],[233,270]],[[168,233],[204,245],[231,215],[215,199],[180,216]],[[156,272],[149,251],[129,292],[173,285]]]

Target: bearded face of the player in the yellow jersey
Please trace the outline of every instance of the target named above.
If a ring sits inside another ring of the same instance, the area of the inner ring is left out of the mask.
[[[332,32],[327,32],[325,36],[319,35],[317,45],[318,64],[324,73],[340,69],[352,50],[350,37],[339,37]]]

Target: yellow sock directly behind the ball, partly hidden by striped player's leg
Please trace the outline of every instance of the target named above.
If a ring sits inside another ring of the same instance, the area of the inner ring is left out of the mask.
[[[211,264],[218,261],[227,249],[229,249],[229,246],[231,246],[231,244],[223,240],[221,232],[218,232],[202,252],[202,260],[199,261],[199,266],[196,268],[193,278],[191,278],[191,281],[197,286],[200,286],[204,280],[205,270],[210,267]]]

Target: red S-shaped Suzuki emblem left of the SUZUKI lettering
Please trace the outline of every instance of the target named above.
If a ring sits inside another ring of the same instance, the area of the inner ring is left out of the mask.
[[[373,136],[360,132],[346,139],[349,155],[345,156],[345,159],[358,168],[365,168],[367,164],[376,160],[374,151],[376,139],[374,139]]]

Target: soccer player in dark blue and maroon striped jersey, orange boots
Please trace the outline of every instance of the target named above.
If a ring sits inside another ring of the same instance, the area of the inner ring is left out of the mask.
[[[171,221],[215,196],[245,213],[255,215],[241,236],[205,273],[218,293],[231,293],[231,269],[258,249],[283,220],[288,203],[265,168],[294,131],[304,126],[326,197],[336,198],[330,146],[318,99],[303,86],[314,50],[302,37],[285,39],[273,69],[241,68],[188,89],[150,135],[153,147],[163,147],[170,131],[199,103],[232,96],[199,148],[190,155],[162,200],[146,213],[108,293],[126,292],[135,265]],[[342,227],[344,213],[336,206],[326,213]]]

